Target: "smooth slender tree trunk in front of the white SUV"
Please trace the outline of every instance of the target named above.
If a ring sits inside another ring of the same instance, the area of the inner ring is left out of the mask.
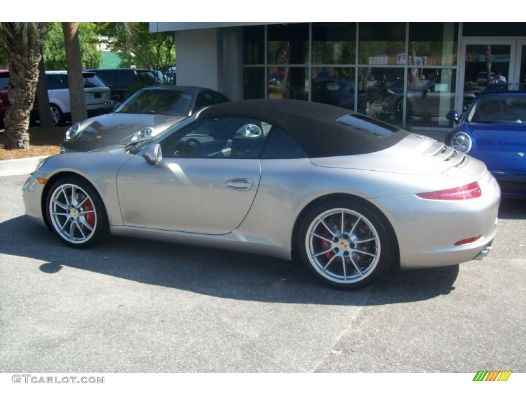
[[[78,22],[62,22],[62,29],[66,48],[71,121],[74,124],[84,121],[88,117],[82,78],[82,58],[80,57],[80,43],[78,41]]]

